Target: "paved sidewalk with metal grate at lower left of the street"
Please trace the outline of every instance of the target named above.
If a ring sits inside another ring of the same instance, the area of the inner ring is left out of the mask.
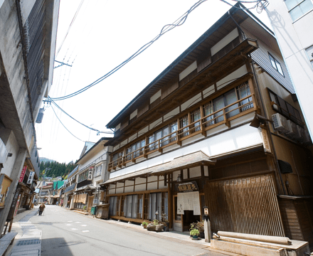
[[[41,230],[31,224],[29,219],[36,215],[38,207],[16,215],[11,232],[17,232],[13,245],[10,245],[6,256],[40,256]]]

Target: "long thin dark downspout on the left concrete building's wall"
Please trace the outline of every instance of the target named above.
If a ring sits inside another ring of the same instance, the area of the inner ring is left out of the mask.
[[[28,105],[29,105],[29,111],[31,112],[31,124],[33,126],[33,137],[35,137],[35,142],[37,142],[36,138],[36,130],[35,130],[35,122],[33,120],[33,106],[31,103],[31,87],[29,86],[29,78],[28,78],[28,66],[27,66],[27,58],[26,58],[26,46],[24,41],[24,35],[23,35],[23,23],[22,23],[22,15],[21,15],[21,5],[19,0],[16,0],[16,12],[18,16],[18,26],[20,30],[20,36],[21,36],[21,45],[22,45],[22,55],[23,55],[23,63],[25,68],[25,79],[26,79],[26,87],[27,87],[27,95],[28,95]],[[26,142],[27,144],[27,142]]]

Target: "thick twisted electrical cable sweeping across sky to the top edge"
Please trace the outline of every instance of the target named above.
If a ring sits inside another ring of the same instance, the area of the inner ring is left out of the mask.
[[[74,97],[76,95],[79,95],[82,92],[85,92],[85,90],[90,89],[90,87],[93,87],[93,86],[97,85],[99,82],[102,82],[102,80],[105,80],[106,78],[110,77],[110,75],[114,74],[115,72],[117,72],[117,70],[120,70],[120,68],[122,68],[124,65],[129,63],[130,60],[136,58],[140,53],[144,52],[144,50],[147,50],[147,48],[152,46],[152,44],[155,41],[157,41],[161,36],[163,36],[165,33],[171,31],[173,28],[176,28],[177,26],[183,25],[185,23],[187,17],[189,16],[189,14],[191,13],[191,11],[196,9],[198,6],[203,4],[203,2],[205,2],[205,1],[208,1],[208,0],[200,0],[200,1],[196,2],[196,4],[193,4],[193,6],[191,6],[191,8],[188,11],[186,11],[186,13],[183,14],[180,18],[178,18],[176,21],[174,21],[174,23],[166,24],[165,26],[163,26],[163,28],[161,28],[161,32],[159,33],[159,35],[154,37],[152,39],[152,41],[149,41],[149,43],[146,43],[144,46],[139,48],[139,50],[137,50],[133,55],[131,55],[126,60],[124,60],[120,65],[117,65],[117,67],[115,67],[112,70],[110,70],[110,72],[108,72],[105,75],[103,75],[101,78],[98,78],[97,80],[92,82],[90,85],[87,85],[86,87],[83,87],[82,89],[80,89],[80,90],[78,90],[76,92],[73,92],[70,95],[65,95],[63,97],[51,97],[51,100],[66,100],[66,99],[68,99],[70,97]]]

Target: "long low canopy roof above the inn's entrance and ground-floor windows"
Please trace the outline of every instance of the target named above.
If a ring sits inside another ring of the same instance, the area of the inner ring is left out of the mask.
[[[144,175],[157,176],[159,174],[166,174],[172,171],[187,169],[194,166],[212,164],[216,164],[216,161],[211,160],[210,157],[204,154],[202,151],[197,151],[186,156],[179,156],[176,159],[173,159],[172,161],[169,161],[165,164],[159,164],[158,166],[149,167],[140,171],[134,171],[131,174],[125,174],[115,178],[110,178],[108,181],[105,181],[105,183],[102,184],[115,183],[118,181],[127,180],[128,178],[135,178]]]

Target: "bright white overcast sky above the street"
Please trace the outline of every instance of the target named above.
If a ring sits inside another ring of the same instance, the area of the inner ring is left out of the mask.
[[[61,46],[81,0],[61,0],[56,52]],[[235,1],[230,1],[235,4]],[[85,0],[55,60],[72,65],[55,68],[49,95],[60,97],[80,90],[115,68],[145,43],[188,11],[194,0]],[[249,5],[246,5],[250,7]],[[230,9],[220,0],[208,0],[189,14],[184,25],[161,36],[137,58],[89,90],[56,102],[78,121],[105,131],[115,117],[149,82],[196,41]],[[270,27],[265,11],[253,13]],[[55,63],[55,66],[59,65]],[[43,122],[36,124],[39,155],[59,162],[79,159],[85,141],[112,135],[90,129],[53,107],[65,127],[45,105]]]

